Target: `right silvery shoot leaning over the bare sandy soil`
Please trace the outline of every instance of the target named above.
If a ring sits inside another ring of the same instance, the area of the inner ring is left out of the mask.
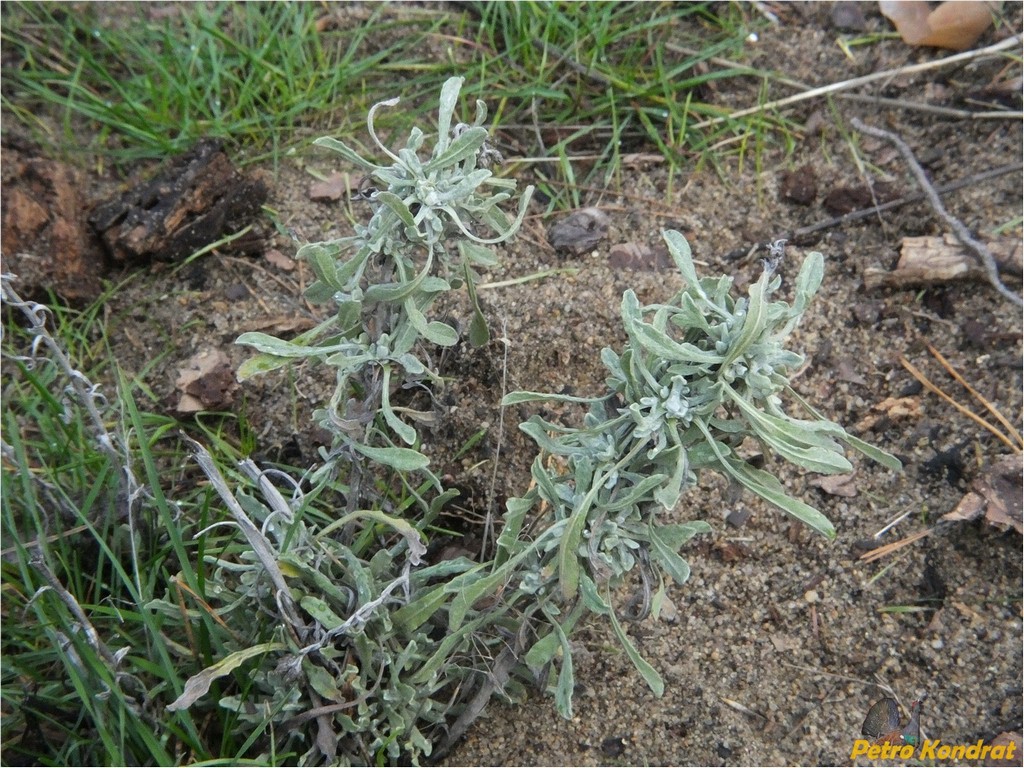
[[[633,617],[642,617],[664,599],[663,573],[677,584],[689,578],[680,548],[711,527],[702,520],[679,523],[666,517],[701,470],[721,472],[834,538],[827,518],[787,496],[774,475],[744,460],[737,451],[744,438],[760,442],[766,454],[823,474],[852,470],[844,444],[890,469],[900,468],[894,457],[821,417],[790,386],[787,376],[804,357],[784,343],[821,283],[820,253],[804,260],[792,304],[772,300],[781,285],[776,268],[782,243],[772,246],[749,295],[735,299],[731,278],[698,278],[686,240],[676,231],[664,237],[685,287],[668,303],[649,306],[626,291],[622,317],[628,342],[621,352],[601,352],[607,390],[597,397],[512,392],[504,398],[505,406],[560,400],[590,407],[582,428],[538,416],[520,425],[545,453],[563,457],[566,469],[552,471],[539,458],[532,489],[508,503],[506,529],[519,528],[535,508],[547,510],[541,528],[557,530],[557,536],[528,557],[520,588],[532,595],[557,592],[566,604],[581,596],[578,606],[609,614],[627,653],[655,692],[664,687],[660,677],[621,631],[602,591],[639,568],[643,586]],[[783,397],[810,418],[787,414]],[[500,557],[523,552],[522,543],[511,537],[503,536],[500,544],[508,548]],[[561,634],[577,617],[568,616]],[[543,638],[526,658],[537,665],[550,660],[556,650],[552,637]],[[568,714],[570,684],[559,678],[556,686],[563,714]]]

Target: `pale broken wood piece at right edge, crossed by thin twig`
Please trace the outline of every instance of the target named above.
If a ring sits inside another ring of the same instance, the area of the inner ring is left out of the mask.
[[[1001,272],[1021,273],[1021,242],[1007,238],[985,246],[995,257]],[[892,271],[880,267],[864,269],[864,288],[900,288],[952,281],[987,281],[984,267],[952,234],[941,238],[904,238],[899,262]]]

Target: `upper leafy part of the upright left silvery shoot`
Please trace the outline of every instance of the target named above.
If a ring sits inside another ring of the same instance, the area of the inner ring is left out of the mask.
[[[242,379],[302,358],[318,359],[336,371],[334,395],[315,414],[335,437],[332,461],[362,456],[399,471],[427,466],[427,458],[414,447],[393,444],[396,437],[414,446],[418,437],[392,407],[391,395],[398,385],[438,381],[429,362],[418,356],[422,342],[447,347],[459,341],[455,328],[428,318],[438,296],[465,285],[473,307],[469,340],[480,345],[488,339],[474,267],[497,263],[489,246],[519,228],[532,187],[519,198],[518,214],[510,221],[501,205],[513,196],[516,182],[490,170],[501,155],[483,127],[486,105],[476,102],[472,125],[453,125],[462,83],[463,78],[451,78],[441,89],[437,138],[428,157],[421,157],[426,134],[418,127],[396,153],[378,137],[374,116],[397,104],[397,98],[375,104],[367,118],[370,136],[390,165],[366,160],[335,138],[314,141],[365,172],[359,195],[373,211],[353,236],[299,249],[299,258],[316,275],[306,298],[334,302],[337,311],[292,341],[261,333],[238,339],[263,353],[243,366]],[[403,413],[412,420],[431,418],[409,409]]]

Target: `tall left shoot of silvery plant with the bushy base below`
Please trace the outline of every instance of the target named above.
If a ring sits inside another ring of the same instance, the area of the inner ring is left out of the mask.
[[[469,621],[449,630],[446,609],[458,596],[452,583],[479,566],[465,557],[422,559],[430,524],[456,492],[429,471],[409,423],[430,415],[391,402],[399,387],[438,382],[431,351],[459,340],[429,317],[442,293],[466,286],[469,340],[487,340],[474,267],[496,263],[490,246],[512,237],[531,194],[519,198],[514,219],[501,210],[515,182],[490,170],[501,156],[482,125],[482,102],[472,125],[453,125],[462,82],[452,78],[441,89],[426,157],[419,128],[396,153],[378,138],[374,117],[397,99],[376,104],[368,118],[390,164],[365,160],[334,138],[315,142],[365,171],[360,197],[372,216],[352,237],[299,249],[316,275],[307,298],[334,304],[326,321],[290,341],[259,333],[238,339],[259,352],[240,370],[242,379],[309,359],[336,372],[334,394],[314,414],[333,441],[324,467],[307,478],[312,490],[303,494],[292,480],[295,493],[285,500],[249,462],[241,469],[258,496],[232,493],[205,450],[194,447],[245,534],[229,552],[207,556],[211,591],[247,621],[232,636],[243,641],[194,675],[171,708],[208,706],[213,680],[260,659],[245,694],[223,696],[219,706],[253,728],[255,743],[269,744],[261,758],[290,750],[300,764],[418,763],[446,723],[475,711],[467,701],[505,642],[498,628],[513,631],[502,605],[470,606]],[[390,487],[362,481],[391,470],[399,482]],[[325,499],[331,506],[331,490],[345,504],[325,524],[321,508]],[[170,601],[159,607],[173,614]],[[269,739],[257,740],[260,731]]]

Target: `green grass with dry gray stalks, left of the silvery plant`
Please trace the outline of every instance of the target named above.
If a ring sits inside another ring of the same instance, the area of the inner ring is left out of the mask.
[[[170,486],[176,422],[140,410],[123,378],[96,383],[92,368],[117,372],[93,338],[101,307],[50,309],[3,275],[4,758],[241,759],[232,713],[199,721],[160,703],[237,641],[194,567],[230,537],[194,536],[216,520],[211,494]],[[244,689],[244,675],[222,685]]]

